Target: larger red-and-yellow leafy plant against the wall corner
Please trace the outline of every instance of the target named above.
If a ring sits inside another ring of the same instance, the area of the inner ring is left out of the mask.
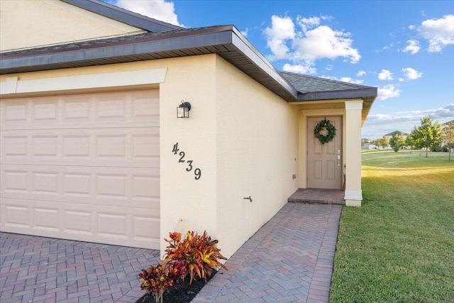
[[[181,240],[181,233],[170,233],[170,240],[164,239],[169,243],[165,250],[164,261],[179,261],[184,267],[185,275],[189,275],[189,284],[194,280],[194,275],[199,278],[209,277],[218,268],[227,269],[219,260],[227,260],[216,247],[217,240],[204,231],[203,235],[198,235],[194,231],[186,233],[186,238]]]

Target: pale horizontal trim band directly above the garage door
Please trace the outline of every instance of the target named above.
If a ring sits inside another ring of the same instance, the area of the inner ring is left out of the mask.
[[[155,68],[151,70],[131,70],[25,80],[21,80],[20,77],[7,77],[6,81],[0,82],[0,95],[6,97],[11,94],[60,92],[72,89],[100,89],[162,83],[165,80],[166,72],[166,68]]]

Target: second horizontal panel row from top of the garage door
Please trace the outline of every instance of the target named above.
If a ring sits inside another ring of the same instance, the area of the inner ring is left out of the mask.
[[[1,162],[159,167],[159,128],[0,131]]]

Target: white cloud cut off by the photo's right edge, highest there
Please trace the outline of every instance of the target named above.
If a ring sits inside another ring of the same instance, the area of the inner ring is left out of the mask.
[[[423,21],[418,31],[428,40],[430,53],[441,52],[446,45],[454,44],[454,15]]]

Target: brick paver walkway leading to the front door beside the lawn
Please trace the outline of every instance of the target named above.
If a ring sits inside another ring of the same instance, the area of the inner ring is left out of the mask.
[[[287,203],[192,302],[328,302],[341,209]]]

